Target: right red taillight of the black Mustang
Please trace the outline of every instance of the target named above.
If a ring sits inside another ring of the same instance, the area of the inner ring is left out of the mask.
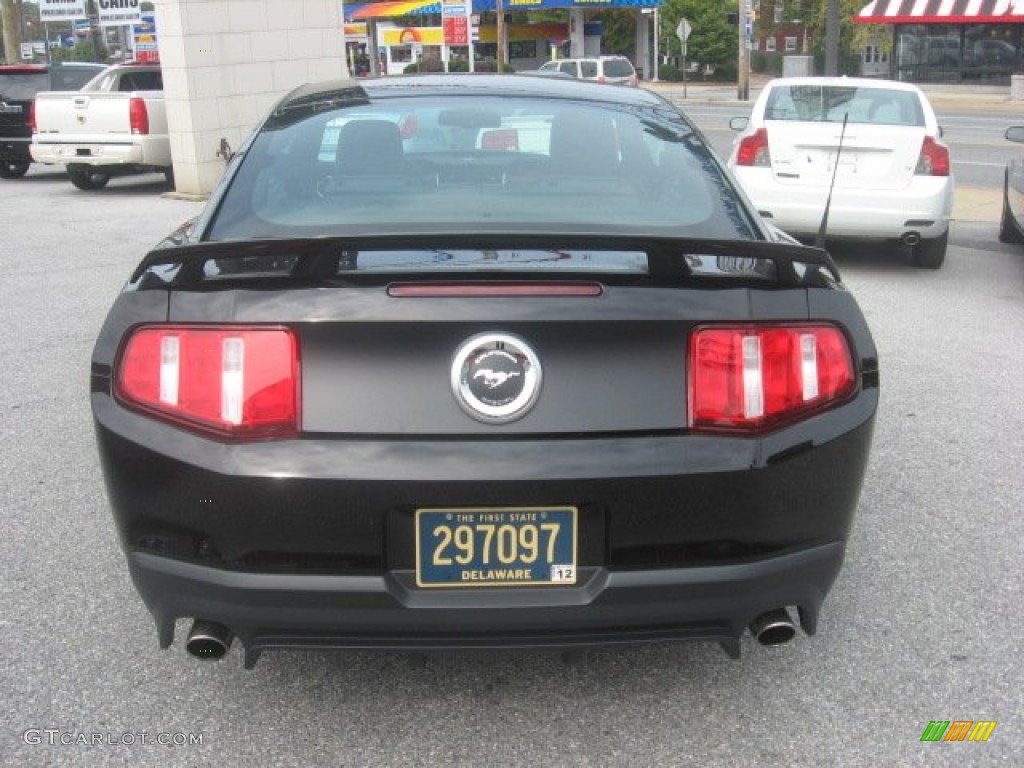
[[[831,326],[699,328],[690,338],[689,362],[694,430],[782,426],[856,389],[850,348]]]

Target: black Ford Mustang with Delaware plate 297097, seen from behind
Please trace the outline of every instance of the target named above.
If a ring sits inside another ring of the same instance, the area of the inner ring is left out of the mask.
[[[458,80],[496,100],[433,82],[294,95],[108,317],[97,442],[161,644],[193,618],[196,654],[236,636],[247,665],[282,647],[674,638],[736,655],[752,624],[792,636],[787,607],[813,634],[878,402],[834,265],[767,242],[652,94],[602,108],[558,80]],[[663,184],[666,216],[700,213],[637,228],[634,179],[549,176],[578,112],[609,119],[618,146],[634,128],[652,142],[665,167],[640,183]],[[537,157],[425,148],[529,116],[551,132]],[[349,134],[384,123],[415,162],[381,178],[377,152],[349,187]],[[566,205],[583,189],[608,200]],[[241,238],[263,226],[278,237]]]

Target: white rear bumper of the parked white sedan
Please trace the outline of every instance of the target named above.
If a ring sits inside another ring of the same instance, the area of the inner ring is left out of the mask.
[[[735,168],[734,172],[769,221],[794,237],[817,234],[827,187],[780,184],[768,168]],[[949,228],[952,190],[951,176],[914,176],[903,189],[837,188],[828,210],[828,236],[896,240],[913,231],[926,240],[938,238]]]

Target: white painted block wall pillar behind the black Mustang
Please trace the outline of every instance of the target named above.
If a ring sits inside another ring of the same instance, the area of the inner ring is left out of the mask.
[[[156,0],[177,191],[209,195],[281,96],[348,76],[338,0]]]

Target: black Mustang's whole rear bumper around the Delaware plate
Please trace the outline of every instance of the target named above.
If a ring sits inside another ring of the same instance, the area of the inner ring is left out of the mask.
[[[178,618],[217,622],[248,665],[281,647],[688,638],[738,652],[756,616],[794,605],[813,634],[878,389],[759,439],[223,444],[92,397],[115,520],[161,644]],[[416,508],[552,504],[579,509],[577,585],[415,586]]]

